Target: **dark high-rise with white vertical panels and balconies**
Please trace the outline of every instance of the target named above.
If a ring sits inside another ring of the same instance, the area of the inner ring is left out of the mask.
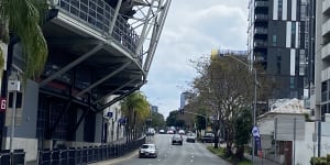
[[[276,82],[275,99],[308,96],[304,89],[312,77],[309,7],[309,0],[249,2],[249,61]]]

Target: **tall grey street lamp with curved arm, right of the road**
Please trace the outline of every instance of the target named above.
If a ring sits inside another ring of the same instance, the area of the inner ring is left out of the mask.
[[[233,55],[227,55],[228,57],[231,57],[232,59],[235,59],[237,62],[239,62],[239,63],[241,63],[241,64],[243,64],[243,65],[245,65],[248,68],[251,68],[251,70],[253,70],[253,74],[254,74],[254,99],[253,99],[253,128],[254,127],[256,127],[256,124],[255,124],[255,112],[256,112],[256,88],[257,88],[257,86],[258,86],[258,81],[257,81],[257,79],[256,79],[256,69],[253,67],[253,66],[251,66],[250,67],[250,65],[249,64],[246,64],[246,63],[244,63],[243,61],[241,61],[240,58],[238,58],[238,57],[235,57],[235,56],[233,56]],[[255,147],[255,139],[254,138],[252,138],[252,154],[251,154],[251,156],[252,156],[252,164],[253,164],[253,162],[254,162],[254,147]]]

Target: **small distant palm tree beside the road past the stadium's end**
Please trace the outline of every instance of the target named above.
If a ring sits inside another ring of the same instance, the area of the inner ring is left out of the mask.
[[[136,125],[143,124],[146,118],[150,117],[150,105],[141,91],[135,91],[121,101],[121,110],[128,118],[127,133],[128,141],[130,141],[132,139],[131,130],[136,133]]]

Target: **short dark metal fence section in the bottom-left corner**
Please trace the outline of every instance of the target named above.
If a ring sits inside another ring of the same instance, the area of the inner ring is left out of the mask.
[[[25,152],[23,150],[14,150],[11,153],[9,150],[0,152],[0,165],[24,165]]]

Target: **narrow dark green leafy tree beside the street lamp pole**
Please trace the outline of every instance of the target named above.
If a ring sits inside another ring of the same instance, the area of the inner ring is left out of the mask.
[[[252,130],[252,113],[248,108],[242,108],[241,113],[238,114],[235,120],[235,138],[237,158],[244,158],[244,145],[250,142]]]

